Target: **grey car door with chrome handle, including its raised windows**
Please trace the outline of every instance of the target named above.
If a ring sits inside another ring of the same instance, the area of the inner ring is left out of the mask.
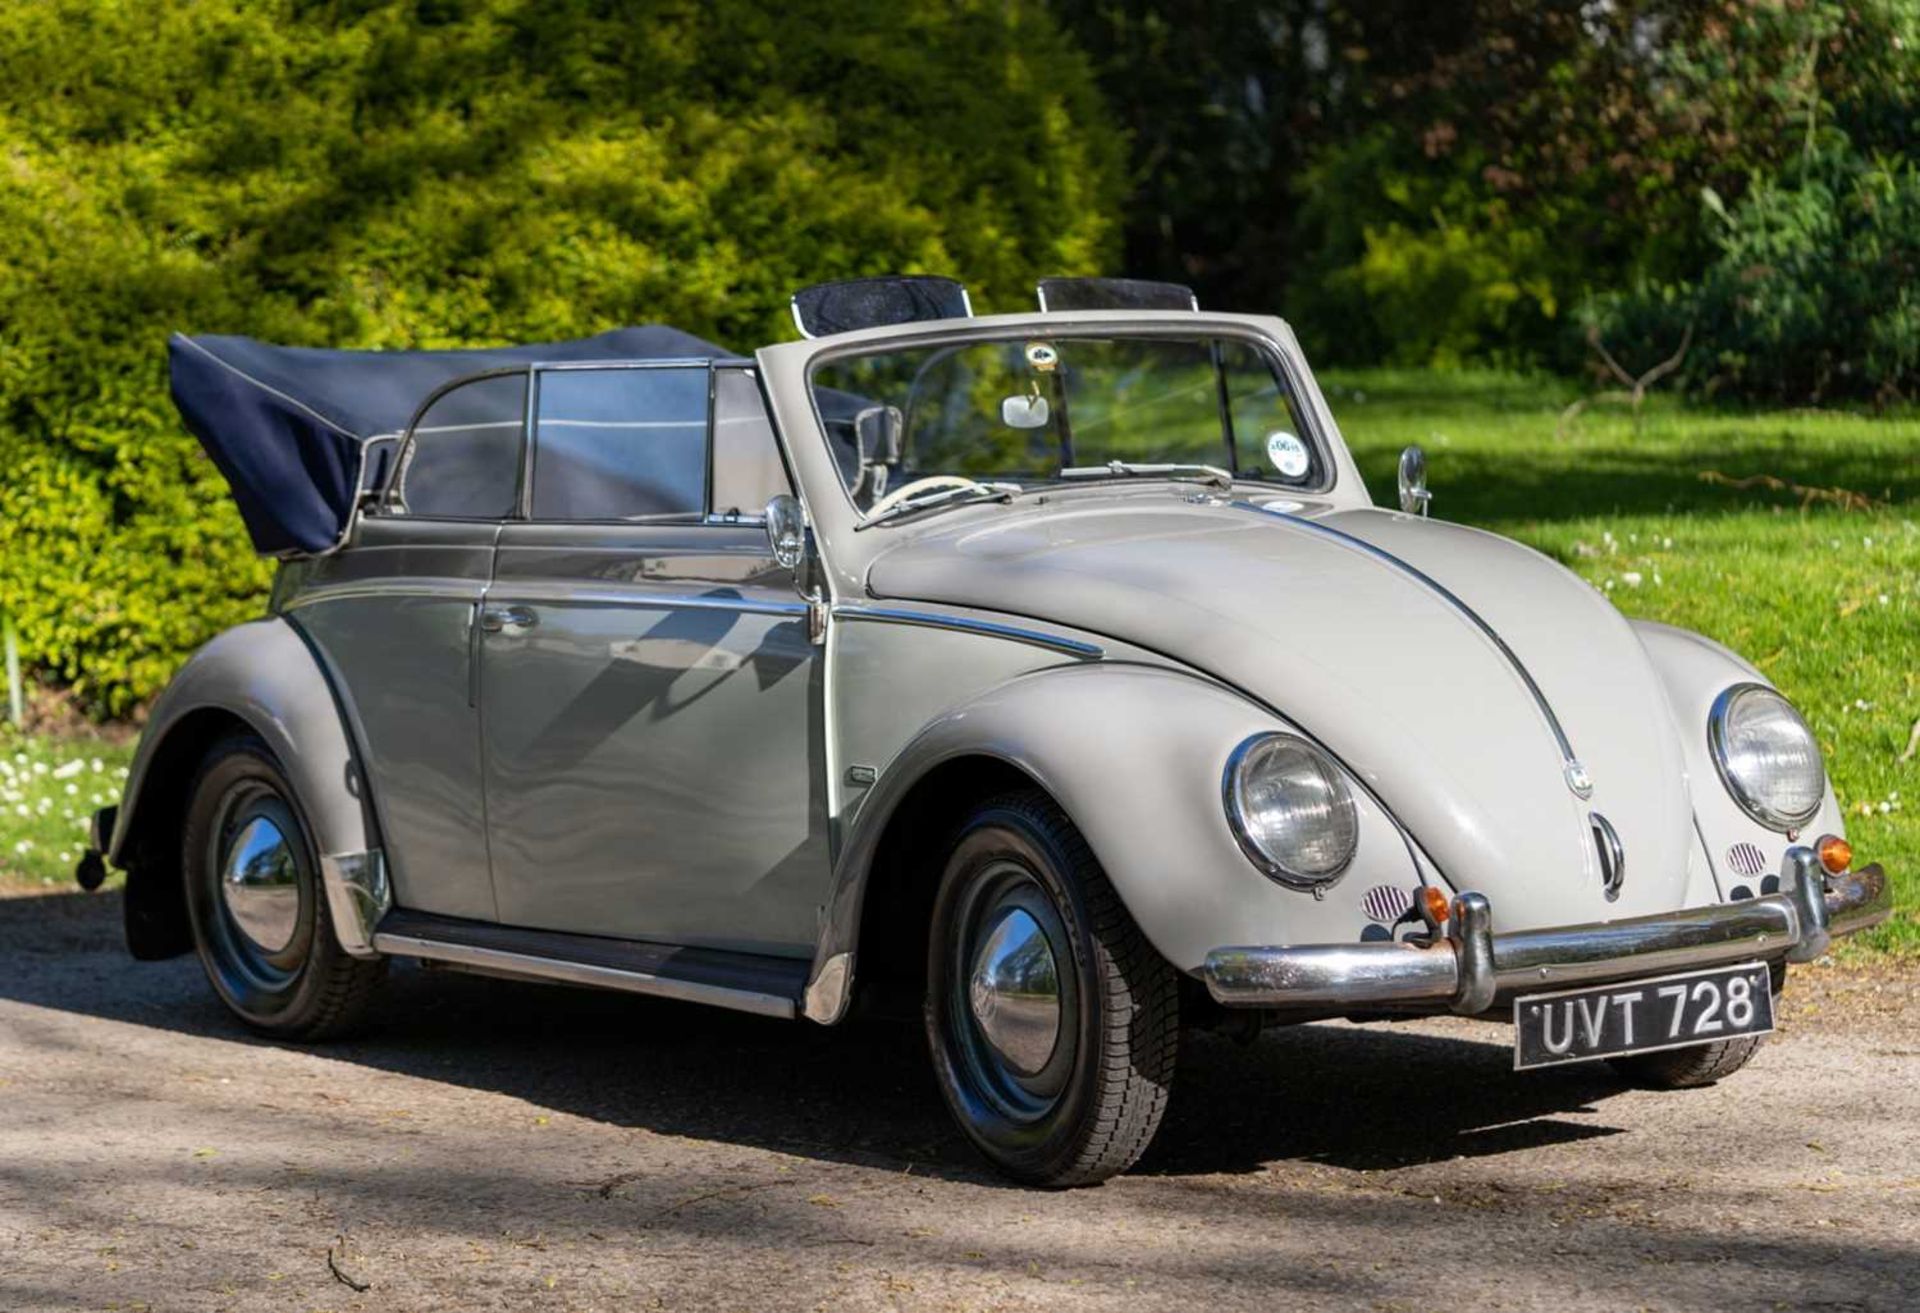
[[[532,411],[526,518],[482,612],[501,919],[810,952],[822,664],[760,522],[787,476],[756,380],[541,369]]]

